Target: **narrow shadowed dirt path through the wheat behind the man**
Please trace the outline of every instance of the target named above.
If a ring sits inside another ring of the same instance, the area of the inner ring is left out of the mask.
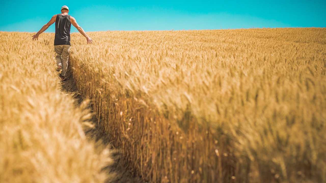
[[[77,86],[76,86],[76,82],[74,80],[74,78],[72,77],[72,74],[70,72],[70,66],[68,66],[68,71],[66,73],[67,76],[67,80],[61,82],[62,84],[62,91],[73,94],[73,98],[76,99],[75,105],[79,106],[83,99],[83,96],[79,93]],[[90,110],[93,112],[92,110],[92,106],[90,106]],[[119,153],[118,150],[114,149],[111,145],[110,142],[111,140],[108,138],[108,135],[106,134],[106,132],[104,132],[103,130],[101,130],[100,128],[97,127],[97,123],[95,121],[96,117],[93,115],[92,117],[92,121],[93,124],[95,125],[94,129],[85,131],[86,136],[90,139],[90,140],[95,140],[96,144],[100,143],[102,147],[109,147],[112,151],[112,159],[114,160],[114,163],[111,165],[106,166],[103,171],[106,171],[108,174],[112,174],[114,176],[108,177],[108,180],[106,182],[110,182],[110,183],[128,183],[128,182],[132,182],[132,183],[137,183],[137,182],[144,182],[141,180],[140,177],[137,177],[135,175],[133,175],[132,172],[129,172],[127,170],[127,166],[126,164],[124,164],[123,162],[123,156]]]

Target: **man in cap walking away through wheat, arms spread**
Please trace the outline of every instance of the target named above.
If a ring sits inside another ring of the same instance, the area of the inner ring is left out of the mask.
[[[68,67],[68,58],[70,52],[70,27],[71,24],[77,28],[77,30],[86,37],[87,44],[92,43],[93,40],[84,32],[82,27],[78,25],[76,19],[70,15],[69,8],[67,6],[61,7],[61,14],[53,15],[51,20],[43,25],[43,27],[33,35],[32,40],[38,40],[38,35],[44,32],[55,22],[55,36],[54,36],[54,51],[56,53],[55,60],[57,63],[57,71],[61,71],[60,78],[66,80],[66,72]]]

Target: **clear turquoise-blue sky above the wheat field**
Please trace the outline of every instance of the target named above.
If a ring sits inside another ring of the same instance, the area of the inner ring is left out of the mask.
[[[63,5],[86,31],[326,27],[326,0],[1,1],[0,31],[37,32]],[[72,27],[71,32],[77,30]],[[54,32],[54,24],[46,32]]]

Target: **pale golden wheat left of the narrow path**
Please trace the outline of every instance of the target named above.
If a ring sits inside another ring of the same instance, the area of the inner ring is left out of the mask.
[[[104,182],[109,152],[85,137],[86,105],[61,92],[54,35],[31,35],[0,32],[0,182]]]

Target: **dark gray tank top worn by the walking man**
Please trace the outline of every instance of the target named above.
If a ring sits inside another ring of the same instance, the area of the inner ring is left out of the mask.
[[[54,45],[70,45],[70,15],[57,14]]]

